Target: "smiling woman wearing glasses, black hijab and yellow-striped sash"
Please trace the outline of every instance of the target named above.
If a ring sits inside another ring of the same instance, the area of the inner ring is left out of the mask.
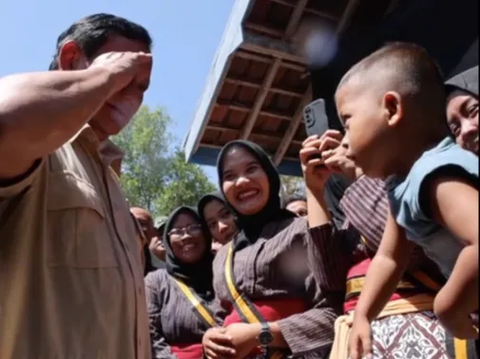
[[[165,226],[166,269],[145,279],[152,358],[201,359],[203,334],[222,323],[211,237],[202,223],[194,209],[176,209]]]

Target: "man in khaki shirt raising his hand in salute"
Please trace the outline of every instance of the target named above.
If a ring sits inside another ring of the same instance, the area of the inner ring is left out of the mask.
[[[0,80],[0,358],[150,357],[143,273],[108,141],[142,103],[151,38],[108,14],[49,72]]]

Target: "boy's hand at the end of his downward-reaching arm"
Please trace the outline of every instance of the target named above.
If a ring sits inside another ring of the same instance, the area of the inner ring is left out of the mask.
[[[348,340],[348,353],[349,359],[373,358],[372,328],[367,318],[355,318]]]

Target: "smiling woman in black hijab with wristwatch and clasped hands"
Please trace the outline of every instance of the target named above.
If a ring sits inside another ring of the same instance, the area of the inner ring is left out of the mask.
[[[236,358],[326,358],[336,311],[306,260],[322,228],[282,209],[280,176],[256,144],[230,142],[217,170],[240,232],[214,261],[215,294],[229,314],[204,336],[206,357],[233,347]]]

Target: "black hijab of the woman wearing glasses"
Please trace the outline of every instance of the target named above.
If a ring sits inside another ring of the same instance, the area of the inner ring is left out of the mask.
[[[203,237],[205,239],[205,253],[202,258],[194,264],[181,262],[173,253],[170,243],[170,236],[173,224],[180,214],[189,214],[202,226]],[[212,238],[206,229],[203,221],[197,211],[190,207],[179,207],[168,217],[163,234],[163,244],[166,250],[167,272],[171,276],[182,280],[186,285],[195,289],[195,292],[204,300],[212,300],[213,293],[213,254],[210,251],[212,247]]]

